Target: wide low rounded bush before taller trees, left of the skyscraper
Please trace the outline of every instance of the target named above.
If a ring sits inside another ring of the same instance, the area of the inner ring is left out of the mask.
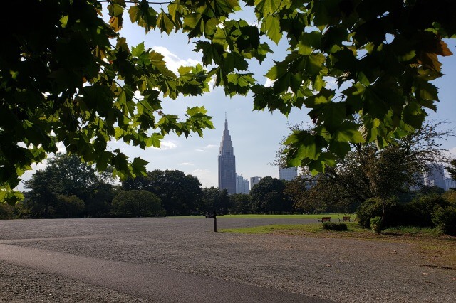
[[[161,201],[149,191],[120,191],[113,199],[113,216],[150,217],[162,214]]]

